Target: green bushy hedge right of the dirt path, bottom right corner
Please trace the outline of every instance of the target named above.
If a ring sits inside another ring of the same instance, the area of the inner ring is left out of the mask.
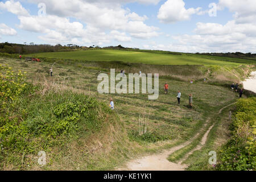
[[[256,97],[240,99],[232,125],[232,138],[222,147],[218,170],[256,169]]]

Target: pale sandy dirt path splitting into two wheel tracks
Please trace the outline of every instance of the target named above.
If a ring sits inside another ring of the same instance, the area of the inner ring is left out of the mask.
[[[220,114],[222,110],[224,110],[226,107],[234,105],[235,103],[222,107],[218,114]],[[209,120],[210,119],[208,119],[207,122],[205,122],[204,127],[207,126]],[[188,158],[189,155],[193,154],[194,151],[200,150],[204,146],[204,144],[207,142],[208,134],[210,133],[210,130],[212,130],[213,126],[214,125],[209,127],[209,129],[201,139],[200,144],[198,144],[193,150],[191,150],[187,155],[185,155],[184,158],[181,159],[179,163],[172,163],[168,161],[168,156],[174,153],[175,151],[180,150],[181,148],[190,144],[201,133],[203,129],[201,129],[191,140],[184,142],[179,146],[172,147],[170,150],[164,150],[160,154],[144,156],[142,158],[132,160],[131,162],[128,162],[126,164],[126,167],[118,168],[117,171],[184,171],[185,168],[187,168],[188,166],[182,163]]]

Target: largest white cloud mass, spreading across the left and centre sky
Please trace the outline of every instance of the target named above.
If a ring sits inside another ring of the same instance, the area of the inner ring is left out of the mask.
[[[41,32],[48,34],[55,31],[56,41],[80,38],[82,42],[109,42],[114,39],[120,42],[130,42],[132,36],[138,39],[150,39],[159,36],[159,28],[147,26],[144,20],[146,15],[140,16],[123,9],[122,3],[135,1],[90,1],[90,0],[30,0],[33,3],[46,3],[47,16],[18,16],[20,19],[19,28],[27,31]],[[159,1],[137,1],[139,3],[158,3]],[[76,18],[77,22],[69,22],[70,18]],[[83,26],[84,23],[86,26]],[[110,34],[105,34],[105,32]],[[60,35],[57,35],[59,32]],[[127,34],[127,35],[126,35]],[[98,37],[98,41],[96,40]],[[51,35],[40,36],[41,39],[53,42]],[[56,42],[54,41],[54,42]]]

